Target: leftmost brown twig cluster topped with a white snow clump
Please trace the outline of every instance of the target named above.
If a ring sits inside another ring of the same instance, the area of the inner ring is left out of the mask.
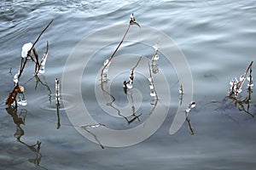
[[[25,94],[24,94],[24,87],[20,86],[19,81],[20,81],[20,77],[22,75],[22,72],[25,69],[26,63],[29,59],[31,59],[34,63],[35,63],[35,72],[34,75],[35,77],[38,76],[38,73],[44,73],[44,65],[48,56],[48,42],[46,45],[46,52],[43,56],[43,58],[39,61],[38,59],[38,52],[35,48],[36,43],[38,42],[39,38],[43,35],[44,31],[47,30],[47,28],[49,27],[49,25],[53,22],[53,20],[51,20],[49,22],[49,24],[44,28],[43,31],[41,31],[41,33],[39,34],[38,38],[36,39],[35,42],[31,43],[28,42],[26,44],[23,45],[22,47],[22,51],[21,51],[21,62],[20,62],[20,71],[18,71],[17,74],[15,74],[14,77],[14,83],[15,86],[13,88],[13,90],[9,93],[9,97],[8,99],[6,99],[5,104],[6,105],[12,105],[15,102],[15,107],[17,107],[17,94],[22,94],[23,97],[21,99],[21,105],[26,105],[26,99],[25,99]],[[34,57],[32,56],[32,53],[34,54]]]

